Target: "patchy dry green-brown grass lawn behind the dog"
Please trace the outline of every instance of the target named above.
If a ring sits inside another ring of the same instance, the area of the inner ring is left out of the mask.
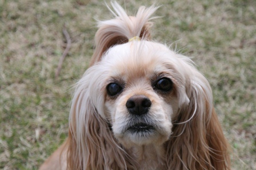
[[[155,1],[119,1],[134,14]],[[167,1],[153,39],[177,45],[213,88],[233,169],[256,169],[256,1]],[[0,169],[38,169],[67,136],[71,86],[88,67],[103,1],[0,0]],[[72,40],[55,79],[66,40]],[[175,47],[173,47],[175,48]]]

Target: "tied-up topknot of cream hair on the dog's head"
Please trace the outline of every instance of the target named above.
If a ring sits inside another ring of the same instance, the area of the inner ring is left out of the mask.
[[[127,15],[117,2],[111,2],[111,6],[113,10],[109,6],[107,7],[115,18],[98,22],[98,31],[95,35],[95,51],[90,66],[100,61],[103,53],[113,45],[127,43],[129,39],[134,37],[150,40],[150,27],[153,23],[149,21],[158,18],[150,18],[158,9],[154,5],[148,8],[145,6],[139,7],[136,16]]]

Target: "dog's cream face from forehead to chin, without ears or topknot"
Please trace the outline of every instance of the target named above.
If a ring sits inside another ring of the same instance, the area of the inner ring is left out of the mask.
[[[174,52],[133,41],[110,48],[93,67],[94,79],[103,81],[98,92],[104,93],[104,108],[96,109],[120,143],[130,147],[169,139],[179,107],[189,102],[186,75]]]

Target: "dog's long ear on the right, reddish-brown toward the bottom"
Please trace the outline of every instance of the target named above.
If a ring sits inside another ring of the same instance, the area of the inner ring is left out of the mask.
[[[190,74],[190,102],[179,110],[167,142],[169,169],[230,169],[229,145],[213,108],[209,82],[195,69]]]

